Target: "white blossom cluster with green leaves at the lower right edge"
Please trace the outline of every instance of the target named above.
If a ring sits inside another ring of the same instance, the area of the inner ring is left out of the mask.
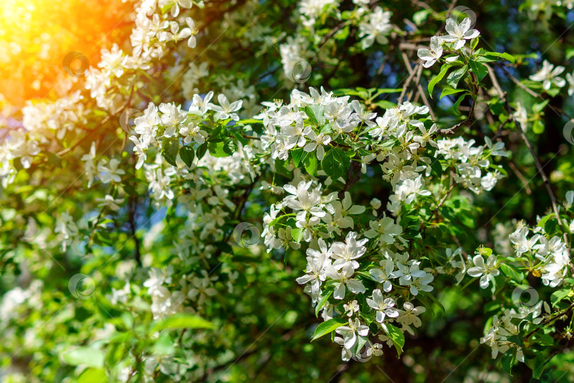
[[[568,191],[563,206],[570,218],[568,209],[573,200],[574,191]],[[570,249],[563,238],[557,235],[552,221],[556,222],[555,213],[539,218],[534,228],[523,221],[514,225],[514,231],[500,224],[495,237],[495,249],[500,250],[500,253],[497,255],[490,248],[479,248],[473,257],[473,267],[467,270],[471,277],[480,277],[481,289],[490,287],[491,292],[501,289],[503,276],[510,279],[511,285],[516,285],[512,291],[514,307],[501,304],[499,313],[490,318],[492,322],[480,339],[480,343],[490,346],[493,358],[502,354],[507,359],[515,358],[524,362],[525,345],[536,347],[536,343],[542,341],[544,336],[551,339],[556,328],[545,328],[544,324],[558,320],[567,310],[561,305],[561,300],[571,292]],[[569,231],[572,232],[574,220],[570,222]],[[540,299],[539,289],[529,287],[531,282],[524,283],[524,272],[528,272],[531,279],[540,279],[553,292],[551,304]],[[528,300],[525,301],[525,298]],[[538,332],[541,329],[545,335]],[[570,326],[561,331],[559,336],[570,339]]]

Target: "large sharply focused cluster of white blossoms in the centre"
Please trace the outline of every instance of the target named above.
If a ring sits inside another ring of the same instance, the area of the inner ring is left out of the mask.
[[[347,314],[349,326],[339,328],[341,337],[335,338],[343,346],[342,357],[348,360],[365,353],[380,355],[381,345],[372,343],[369,336],[381,331],[383,339],[393,345],[389,338],[395,336],[389,330],[392,323],[400,326],[398,331],[412,333],[411,325],[420,326],[420,319],[413,312],[423,312],[423,308],[415,310],[412,299],[432,292],[434,273],[456,274],[456,281],[460,282],[468,265],[459,249],[447,252],[447,266],[423,268],[420,260],[405,252],[403,226],[385,213],[368,221],[368,230],[357,231],[366,206],[353,204],[348,191],[330,191],[337,182],[346,182],[344,177],[325,172],[330,155],[340,145],[354,145],[364,148],[361,167],[371,166],[369,162],[373,160],[382,162],[384,178],[394,192],[388,209],[397,215],[400,206],[410,206],[417,198],[427,198],[427,203],[435,201],[432,193],[424,189],[423,177],[432,163],[430,157],[422,155],[424,150],[432,149],[437,157],[444,157],[446,167],[454,170],[454,182],[480,193],[490,185],[481,186],[481,171],[474,167],[489,167],[487,159],[491,155],[505,155],[503,144],[488,141],[475,148],[474,141],[462,138],[435,140],[436,125],[427,128],[427,118],[415,119],[415,115],[424,116],[428,109],[410,102],[377,117],[356,100],[349,102],[348,97],[311,88],[310,94],[294,90],[290,104],[265,106],[257,116],[265,127],[261,148],[269,150],[271,158],[286,162],[298,160],[303,164],[317,158],[323,167],[317,175],[328,176],[322,182],[298,174],[293,182],[276,187],[276,194],[283,194],[284,190],[286,196],[265,213],[262,237],[267,251],[299,249],[308,243],[307,273],[297,280],[305,284],[304,291],[325,321]],[[308,164],[305,168],[310,171]],[[378,209],[381,204],[373,206]],[[405,295],[410,298],[405,300]],[[366,306],[357,303],[363,300],[361,296],[368,296]],[[401,301],[405,311],[393,308]],[[378,331],[371,331],[369,326],[376,323]]]

